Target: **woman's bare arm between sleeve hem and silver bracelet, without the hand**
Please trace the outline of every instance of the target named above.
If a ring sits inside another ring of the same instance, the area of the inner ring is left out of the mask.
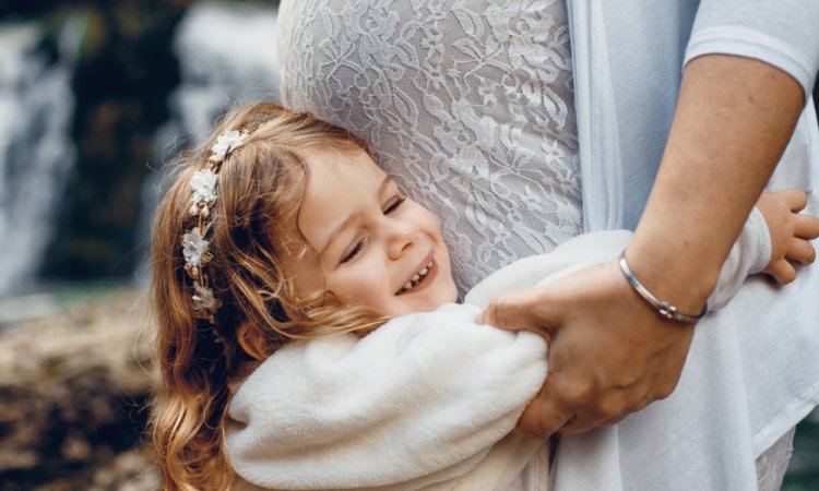
[[[628,254],[651,291],[699,311],[803,105],[798,83],[761,61],[711,55],[687,65]]]

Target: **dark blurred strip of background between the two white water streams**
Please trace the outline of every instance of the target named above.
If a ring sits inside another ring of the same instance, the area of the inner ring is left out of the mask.
[[[167,119],[167,96],[179,83],[170,39],[187,3],[58,2],[46,14],[79,11],[88,32],[73,83],[75,173],[44,276],[123,277],[133,271],[140,189],[151,137]]]

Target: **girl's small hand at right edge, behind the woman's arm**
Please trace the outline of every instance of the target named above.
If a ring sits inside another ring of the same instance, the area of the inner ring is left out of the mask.
[[[819,218],[799,213],[806,204],[807,195],[797,189],[762,193],[757,201],[771,235],[771,261],[762,273],[780,285],[796,278],[792,262],[809,264],[816,260],[816,250],[808,240],[819,237]]]

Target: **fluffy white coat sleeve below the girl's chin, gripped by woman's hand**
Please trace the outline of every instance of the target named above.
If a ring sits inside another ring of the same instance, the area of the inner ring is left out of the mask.
[[[509,433],[546,376],[542,338],[444,306],[352,335],[295,343],[230,403],[245,480],[273,489],[416,489],[462,476]]]

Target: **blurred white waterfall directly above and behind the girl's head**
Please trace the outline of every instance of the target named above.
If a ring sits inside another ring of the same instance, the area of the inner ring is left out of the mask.
[[[180,22],[174,37],[181,83],[168,101],[171,119],[154,135],[161,167],[188,145],[200,144],[227,109],[258,99],[278,100],[275,57],[276,10],[268,5],[200,3]],[[150,279],[146,237],[162,194],[157,172],[143,185],[138,244],[145,260],[138,283]]]

